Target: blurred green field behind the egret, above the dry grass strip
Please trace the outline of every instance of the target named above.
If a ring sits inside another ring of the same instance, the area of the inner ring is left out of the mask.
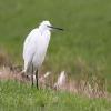
[[[111,83],[111,0],[0,0],[0,48],[14,64],[23,64],[23,40],[42,20],[64,29],[52,32],[46,71],[75,74],[79,61]]]

